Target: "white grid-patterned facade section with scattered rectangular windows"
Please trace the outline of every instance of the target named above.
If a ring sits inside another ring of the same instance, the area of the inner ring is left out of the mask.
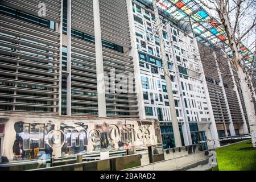
[[[132,2],[132,9],[134,21],[131,27],[135,33],[133,41],[136,42],[138,52],[145,115],[148,119],[159,120],[164,148],[174,147],[170,104],[154,11],[138,1]],[[199,52],[197,41],[193,34],[186,34],[170,20],[162,18],[166,49],[164,56],[168,60],[182,143],[188,145],[212,139],[210,127],[214,127],[214,118],[210,115],[212,111],[207,100],[208,91],[200,56],[196,55]]]

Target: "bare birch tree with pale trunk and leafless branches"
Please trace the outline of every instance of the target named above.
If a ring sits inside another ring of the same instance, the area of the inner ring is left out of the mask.
[[[253,73],[255,71],[255,51],[253,62],[248,63],[242,57],[240,45],[246,38],[251,37],[256,26],[256,13],[254,0],[197,0],[211,12],[216,12],[229,40],[229,48],[233,53],[233,65],[237,70],[238,78],[245,100],[247,117],[250,125],[251,140],[256,147],[256,115],[254,109],[255,90],[253,89]],[[241,29],[242,27],[242,29]],[[242,31],[241,31],[242,30]]]

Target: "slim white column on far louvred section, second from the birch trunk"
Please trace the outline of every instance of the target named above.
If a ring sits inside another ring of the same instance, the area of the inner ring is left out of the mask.
[[[230,109],[229,109],[229,102],[228,102],[228,99],[226,98],[226,91],[225,91],[225,88],[224,88],[224,84],[223,84],[223,80],[222,80],[222,76],[221,76],[221,72],[220,72],[220,66],[218,65],[217,56],[216,56],[215,52],[213,52],[213,57],[214,57],[214,60],[215,60],[215,63],[216,63],[216,67],[217,67],[217,71],[218,71],[218,78],[220,79],[220,84],[221,84],[222,92],[224,94],[224,100],[226,102],[226,109],[227,109],[228,115],[229,115],[229,131],[230,131],[230,135],[234,136],[234,135],[236,135],[236,132],[234,131],[234,125],[233,125],[233,121],[232,121],[232,116],[231,116]],[[226,137],[228,137],[228,132],[226,131],[226,123],[225,123],[225,121],[223,121],[223,122],[224,122],[223,124],[224,124],[225,135],[226,135]]]

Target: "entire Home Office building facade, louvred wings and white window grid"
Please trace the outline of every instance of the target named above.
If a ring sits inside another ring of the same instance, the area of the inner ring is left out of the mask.
[[[220,85],[192,32],[164,14],[162,55],[146,1],[40,2],[0,1],[0,112],[158,119],[163,148],[175,147],[166,56],[183,146],[247,133],[241,91],[225,77]]]

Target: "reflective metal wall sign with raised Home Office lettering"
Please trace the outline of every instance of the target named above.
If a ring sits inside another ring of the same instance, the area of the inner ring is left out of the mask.
[[[9,160],[38,159],[40,154],[51,158],[133,150],[162,143],[158,122],[154,120],[20,114],[10,117],[6,126],[14,131],[8,133],[14,139],[3,146],[3,155]]]

